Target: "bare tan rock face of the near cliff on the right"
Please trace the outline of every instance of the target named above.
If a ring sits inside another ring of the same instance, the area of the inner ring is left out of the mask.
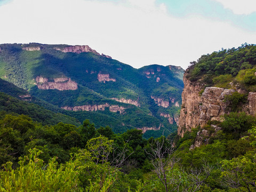
[[[204,126],[208,121],[222,121],[224,114],[230,113],[228,102],[225,96],[234,93],[234,89],[223,89],[218,87],[206,87],[202,95],[199,92],[204,85],[200,82],[190,82],[183,77],[184,90],[182,92],[182,107],[180,111],[178,135],[183,137],[186,131],[191,128]],[[249,93],[247,103],[243,106],[243,111],[249,115],[256,114],[256,93]]]

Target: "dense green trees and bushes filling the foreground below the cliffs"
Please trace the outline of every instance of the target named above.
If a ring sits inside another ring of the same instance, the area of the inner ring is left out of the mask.
[[[115,134],[88,120],[79,127],[43,126],[6,115],[0,121],[0,189],[255,191],[256,118],[236,112],[218,125],[218,132],[204,127],[214,133],[207,145],[189,150],[199,127],[182,139],[146,140],[140,130]]]

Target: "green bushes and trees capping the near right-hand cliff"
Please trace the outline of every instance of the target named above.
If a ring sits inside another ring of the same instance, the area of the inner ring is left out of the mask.
[[[247,91],[256,91],[255,55],[256,46],[246,43],[237,49],[202,55],[197,62],[191,62],[187,78],[193,82],[201,79],[205,86],[230,88],[237,85]]]

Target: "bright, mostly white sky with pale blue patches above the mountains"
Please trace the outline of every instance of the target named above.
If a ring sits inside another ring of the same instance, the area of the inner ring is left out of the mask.
[[[134,68],[256,43],[255,0],[0,0],[0,18],[0,44],[89,45]]]

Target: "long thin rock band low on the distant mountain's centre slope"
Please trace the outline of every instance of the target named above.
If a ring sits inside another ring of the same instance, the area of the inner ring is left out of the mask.
[[[124,113],[125,108],[122,106],[117,105],[109,105],[108,103],[102,105],[83,105],[83,106],[74,106],[74,107],[61,107],[62,109],[72,110],[72,111],[97,111],[102,110],[104,111],[106,107],[109,107],[109,111],[117,113],[119,111],[120,114]]]

